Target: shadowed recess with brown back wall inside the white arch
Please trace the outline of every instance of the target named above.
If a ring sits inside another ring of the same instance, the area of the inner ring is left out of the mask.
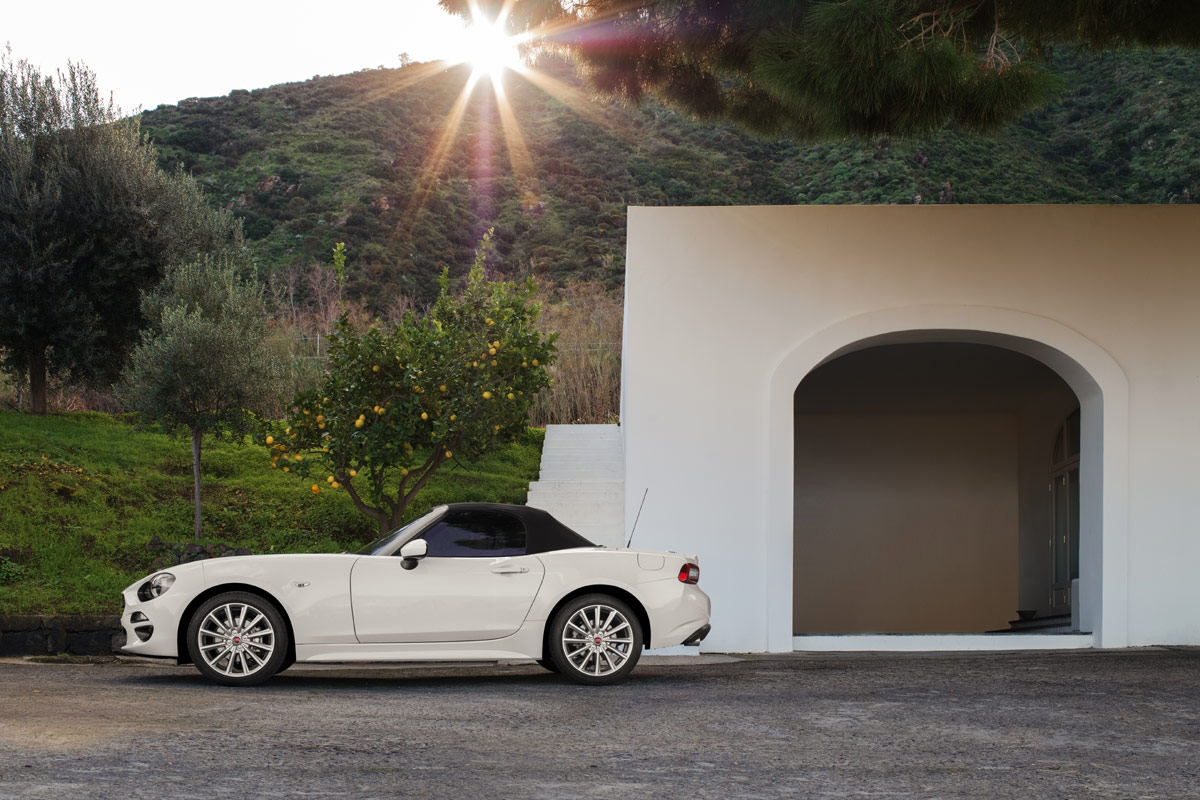
[[[794,395],[793,633],[1069,632],[1078,409],[1052,369],[994,344],[876,344],[810,372]]]

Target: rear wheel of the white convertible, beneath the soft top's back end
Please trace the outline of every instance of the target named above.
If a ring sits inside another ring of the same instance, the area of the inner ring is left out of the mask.
[[[554,614],[547,645],[564,678],[589,686],[616,684],[642,655],[642,624],[611,595],[583,595]]]

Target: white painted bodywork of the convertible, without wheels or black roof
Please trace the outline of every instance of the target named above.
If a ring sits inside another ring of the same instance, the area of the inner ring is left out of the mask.
[[[388,551],[392,554],[250,555],[169,567],[163,571],[175,582],[158,597],[138,597],[149,576],[125,589],[122,649],[186,658],[179,642],[190,609],[222,590],[274,600],[300,662],[542,658],[557,607],[593,591],[640,606],[635,610],[644,610],[649,648],[680,644],[709,621],[708,595],[678,577],[685,564],[698,564],[692,555],[577,547],[502,558],[431,557],[406,570],[395,553],[422,533],[418,527],[397,537]],[[146,619],[134,622],[134,614]],[[143,642],[136,628],[146,625],[154,632]]]

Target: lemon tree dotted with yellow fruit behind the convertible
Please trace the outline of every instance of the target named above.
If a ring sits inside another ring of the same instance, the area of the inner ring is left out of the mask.
[[[342,317],[320,385],[266,437],[271,468],[304,477],[306,492],[347,492],[386,534],[448,462],[524,431],[554,337],[536,327],[534,283],[487,281],[482,252],[461,293],[443,272],[427,314],[361,333]]]

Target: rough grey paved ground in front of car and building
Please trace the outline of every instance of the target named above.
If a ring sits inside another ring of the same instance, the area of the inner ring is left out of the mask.
[[[0,798],[1195,798],[1200,650],[536,666],[0,662]]]

